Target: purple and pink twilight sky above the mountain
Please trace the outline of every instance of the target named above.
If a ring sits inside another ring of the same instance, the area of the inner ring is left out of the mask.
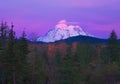
[[[44,35],[60,20],[77,23],[99,38],[114,29],[120,38],[120,0],[0,0],[0,21],[15,25],[19,36]]]

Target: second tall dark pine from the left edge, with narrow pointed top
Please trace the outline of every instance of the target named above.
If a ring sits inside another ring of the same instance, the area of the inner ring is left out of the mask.
[[[15,55],[15,32],[13,31],[14,25],[11,25],[9,30],[8,38],[8,49],[6,55],[6,67],[8,68],[8,73],[10,74],[10,80],[13,84],[16,84],[16,68],[17,68],[17,57]]]

